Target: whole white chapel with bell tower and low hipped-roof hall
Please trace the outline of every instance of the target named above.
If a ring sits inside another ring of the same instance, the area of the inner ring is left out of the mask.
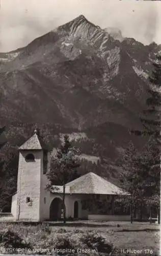
[[[46,172],[50,168],[50,151],[35,130],[33,136],[19,147],[17,192],[12,197],[11,213],[15,220],[58,221],[62,218],[63,186],[48,191]],[[114,200],[128,194],[106,179],[89,172],[65,185],[67,219],[130,220],[130,215],[115,215]],[[95,198],[106,206],[102,214]]]

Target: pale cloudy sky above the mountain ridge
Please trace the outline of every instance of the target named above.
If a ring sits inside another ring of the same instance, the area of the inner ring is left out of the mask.
[[[28,45],[83,14],[102,29],[116,27],[144,45],[161,44],[161,2],[135,0],[0,0],[0,52]]]

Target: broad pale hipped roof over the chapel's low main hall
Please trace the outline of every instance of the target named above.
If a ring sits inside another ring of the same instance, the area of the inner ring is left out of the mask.
[[[57,187],[57,186],[55,186]],[[60,188],[53,193],[62,193]],[[66,184],[66,194],[129,195],[116,185],[92,172]]]

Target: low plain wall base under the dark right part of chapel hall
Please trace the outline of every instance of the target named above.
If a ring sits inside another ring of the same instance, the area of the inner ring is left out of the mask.
[[[94,221],[130,221],[130,215],[95,215],[89,214],[88,220]]]

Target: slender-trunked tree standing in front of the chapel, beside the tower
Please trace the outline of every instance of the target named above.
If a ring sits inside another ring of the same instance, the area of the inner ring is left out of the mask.
[[[80,166],[79,161],[80,150],[71,145],[69,137],[64,136],[64,143],[61,145],[58,153],[52,159],[51,168],[46,176],[49,180],[46,188],[54,189],[55,185],[63,185],[63,220],[66,222],[65,214],[65,184],[73,179],[78,178],[77,167]],[[57,189],[55,187],[55,189]]]

